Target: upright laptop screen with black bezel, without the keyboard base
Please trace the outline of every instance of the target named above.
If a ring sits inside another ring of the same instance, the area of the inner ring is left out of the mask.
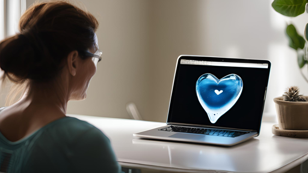
[[[168,122],[258,131],[269,78],[265,62],[180,58]]]

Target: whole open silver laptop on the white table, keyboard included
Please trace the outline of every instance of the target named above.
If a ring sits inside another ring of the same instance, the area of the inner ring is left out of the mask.
[[[260,134],[270,61],[180,55],[167,124],[141,138],[232,146]]]

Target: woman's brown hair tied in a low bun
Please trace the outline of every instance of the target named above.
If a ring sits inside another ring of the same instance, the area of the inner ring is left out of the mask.
[[[71,51],[81,53],[94,46],[98,26],[91,13],[71,3],[33,4],[19,20],[20,34],[0,42],[3,80],[8,78],[17,84],[50,80]]]

